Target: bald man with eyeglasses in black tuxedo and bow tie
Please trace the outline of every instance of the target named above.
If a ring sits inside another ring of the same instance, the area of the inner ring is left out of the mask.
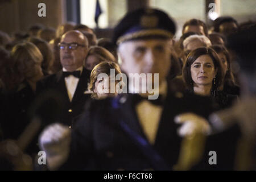
[[[87,90],[90,72],[83,67],[88,53],[88,40],[80,31],[72,30],[61,36],[58,46],[63,69],[39,81],[36,92],[39,94],[54,90],[63,102],[61,114],[56,118],[58,122],[71,127],[73,118],[82,112],[89,98],[84,92]]]

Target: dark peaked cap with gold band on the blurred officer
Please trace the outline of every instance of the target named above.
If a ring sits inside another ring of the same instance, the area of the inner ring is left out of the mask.
[[[174,21],[166,13],[156,9],[139,9],[127,14],[114,29],[113,42],[162,38],[170,39],[176,31]]]

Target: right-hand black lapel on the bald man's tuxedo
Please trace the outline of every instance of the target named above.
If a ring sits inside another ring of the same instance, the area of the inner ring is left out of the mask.
[[[89,79],[90,79],[90,71],[83,68],[82,75],[76,86],[76,92],[73,96],[72,102],[76,102],[77,100],[79,100],[79,98],[81,98],[81,96],[84,94],[85,90],[87,90]]]

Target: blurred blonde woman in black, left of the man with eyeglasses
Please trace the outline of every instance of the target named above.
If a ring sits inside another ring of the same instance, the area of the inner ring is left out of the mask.
[[[17,44],[11,51],[13,73],[10,74],[15,86],[9,90],[6,102],[6,138],[17,139],[31,121],[30,109],[35,99],[36,82],[43,77],[42,61],[39,49],[30,42]],[[36,151],[36,143],[33,144],[27,148],[28,154]]]

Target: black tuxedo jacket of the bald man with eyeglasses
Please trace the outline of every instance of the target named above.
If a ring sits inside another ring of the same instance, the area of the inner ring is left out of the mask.
[[[89,79],[90,71],[83,68],[72,101],[70,101],[68,97],[63,71],[59,71],[54,75],[49,75],[37,83],[36,95],[38,97],[45,93],[50,93],[55,95],[55,98],[58,98],[56,101],[59,102],[59,104],[57,104],[59,108],[52,108],[52,110],[56,110],[56,117],[53,118],[56,118],[57,121],[54,122],[60,122],[64,125],[71,126],[72,119],[81,114],[86,100],[90,97],[89,94],[84,94],[88,88]],[[50,106],[51,105],[49,105],[49,107]],[[52,112],[53,111],[51,111],[51,113]]]

